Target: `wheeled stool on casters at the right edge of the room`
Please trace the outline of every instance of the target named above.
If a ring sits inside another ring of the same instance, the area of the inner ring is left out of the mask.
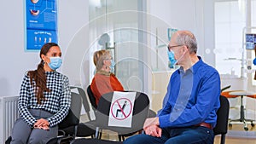
[[[244,116],[244,106],[243,106],[243,102],[242,99],[244,96],[248,96],[248,97],[252,97],[253,95],[255,95],[252,92],[247,92],[247,91],[232,91],[229,93],[229,95],[234,96],[234,97],[241,97],[241,107],[240,107],[240,118],[239,119],[230,119],[230,122],[242,122],[244,124],[244,130],[248,130],[247,128],[247,122],[251,122],[251,125],[254,126],[253,124],[253,119],[247,119]],[[231,126],[232,124],[230,124]]]

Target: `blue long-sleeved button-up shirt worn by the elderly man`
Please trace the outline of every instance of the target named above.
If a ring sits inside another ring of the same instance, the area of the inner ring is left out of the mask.
[[[216,125],[220,95],[217,70],[201,60],[186,72],[180,67],[172,73],[158,113],[160,127],[186,127],[202,122]]]

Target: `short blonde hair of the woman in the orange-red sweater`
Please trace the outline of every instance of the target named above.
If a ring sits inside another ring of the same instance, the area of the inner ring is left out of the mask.
[[[96,66],[96,71],[100,71],[104,66],[104,60],[111,56],[110,51],[106,49],[98,50],[93,55],[93,63]]]

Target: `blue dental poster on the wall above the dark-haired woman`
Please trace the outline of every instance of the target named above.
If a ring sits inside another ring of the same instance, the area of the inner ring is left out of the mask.
[[[26,0],[26,50],[40,50],[44,43],[58,43],[56,3]]]

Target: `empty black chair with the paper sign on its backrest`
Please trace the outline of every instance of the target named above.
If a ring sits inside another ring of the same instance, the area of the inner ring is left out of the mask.
[[[130,92],[120,92],[122,94],[127,94]],[[112,130],[113,132],[118,133],[119,135],[119,142],[121,141],[122,135],[130,135],[134,134],[135,132],[139,130],[143,130],[143,124],[145,122],[145,119],[148,118],[148,110],[149,110],[149,100],[148,95],[145,95],[140,92],[135,92],[135,101],[131,118],[131,127],[123,127],[123,126],[109,126],[108,125],[108,118],[109,118],[109,112],[111,112],[112,108],[112,99],[113,99],[114,92],[110,92],[108,94],[102,95],[100,98],[100,101],[97,105],[96,109],[96,138],[99,138],[98,134],[100,130]],[[130,105],[131,106],[131,105]],[[126,106],[125,108],[129,108]],[[114,114],[116,112],[113,112]],[[104,141],[99,139],[77,139],[73,140],[71,143],[77,143],[77,141],[95,141],[96,143],[99,142],[117,142],[117,141]],[[90,143],[89,142],[89,143]]]

